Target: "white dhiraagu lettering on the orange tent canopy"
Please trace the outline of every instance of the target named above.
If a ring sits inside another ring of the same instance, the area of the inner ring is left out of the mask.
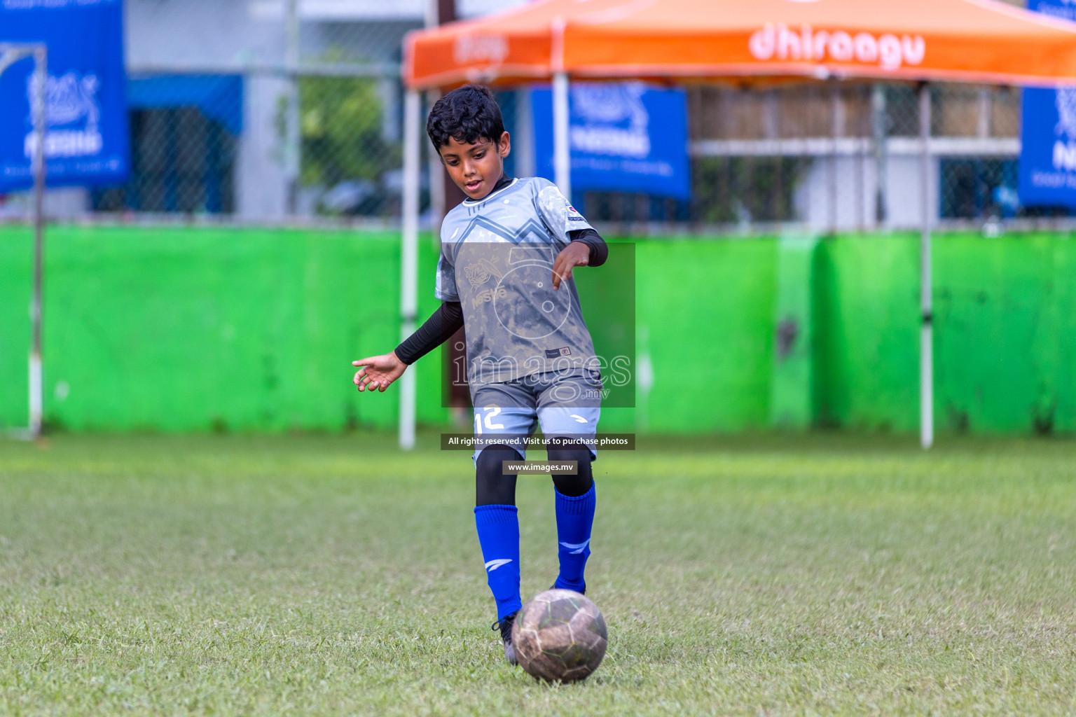
[[[815,30],[809,25],[795,31],[783,23],[766,23],[764,28],[751,34],[748,47],[758,60],[823,61],[829,58],[837,62],[877,63],[886,70],[919,64],[926,54],[926,42],[918,34],[897,38],[887,32],[876,38],[869,32],[859,32],[853,37],[844,30]]]

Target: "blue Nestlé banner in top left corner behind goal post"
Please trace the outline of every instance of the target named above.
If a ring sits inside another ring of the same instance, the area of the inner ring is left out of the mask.
[[[44,42],[49,186],[127,176],[123,0],[0,0],[0,43]],[[0,74],[0,191],[33,184],[33,59]]]

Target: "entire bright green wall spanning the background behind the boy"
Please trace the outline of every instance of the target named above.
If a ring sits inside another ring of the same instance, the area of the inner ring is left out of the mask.
[[[30,239],[0,227],[3,427],[26,424]],[[436,254],[423,238],[423,317],[437,304]],[[1076,428],[1072,239],[940,235],[934,262],[939,429]],[[637,346],[653,382],[639,410],[604,411],[604,429],[916,428],[917,236],[648,239],[635,263]],[[596,325],[617,292],[589,290],[590,271],[600,269],[580,272],[580,291]],[[394,232],[51,227],[46,282],[52,425],[395,424],[395,396],[350,386],[352,359],[399,339]],[[795,338],[778,352],[782,321]],[[416,369],[420,420],[445,422],[440,361]]]

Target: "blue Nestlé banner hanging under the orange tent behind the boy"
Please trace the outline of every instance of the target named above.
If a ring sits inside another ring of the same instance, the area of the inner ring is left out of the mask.
[[[553,178],[553,96],[532,90],[535,168]],[[690,199],[684,92],[638,82],[579,83],[570,90],[571,188]]]

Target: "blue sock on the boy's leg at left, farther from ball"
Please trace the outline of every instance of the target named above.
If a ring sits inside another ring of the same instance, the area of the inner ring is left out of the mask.
[[[497,601],[497,619],[511,615],[520,601],[520,518],[514,505],[475,508],[478,542],[482,545],[485,577]]]

